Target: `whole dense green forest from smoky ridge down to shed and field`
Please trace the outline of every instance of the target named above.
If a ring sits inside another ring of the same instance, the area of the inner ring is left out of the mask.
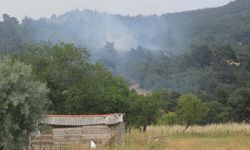
[[[128,130],[144,131],[248,122],[249,16],[248,0],[161,16],[75,10],[19,22],[4,14],[0,148],[24,144],[46,113],[124,112]]]

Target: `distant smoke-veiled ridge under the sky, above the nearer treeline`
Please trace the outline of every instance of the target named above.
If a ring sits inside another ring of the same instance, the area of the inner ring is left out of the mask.
[[[219,8],[162,16],[129,17],[76,10],[30,23],[25,19],[23,25],[33,29],[30,40],[36,41],[60,40],[91,48],[100,48],[109,41],[120,50],[138,45],[179,50],[196,43],[240,43],[246,47],[250,40],[249,15],[250,2],[237,0]]]

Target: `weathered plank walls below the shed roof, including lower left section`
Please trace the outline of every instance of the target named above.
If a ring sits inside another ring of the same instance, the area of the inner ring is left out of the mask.
[[[46,135],[51,137],[49,141],[42,134],[39,139],[32,139],[32,145],[35,149],[46,147],[45,150],[50,150],[51,145],[89,144],[90,140],[97,145],[119,144],[124,133],[124,123],[112,126],[57,127],[52,129],[52,134]]]

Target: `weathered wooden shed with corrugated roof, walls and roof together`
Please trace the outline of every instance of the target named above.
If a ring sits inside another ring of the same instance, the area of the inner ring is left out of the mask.
[[[33,137],[32,147],[49,150],[53,145],[118,144],[125,133],[124,114],[48,115],[40,124],[51,127],[50,134]],[[44,148],[43,148],[44,147]]]

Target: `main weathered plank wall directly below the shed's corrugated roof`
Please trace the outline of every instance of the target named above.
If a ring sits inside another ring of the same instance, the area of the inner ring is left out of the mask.
[[[123,123],[113,126],[94,125],[75,128],[54,128],[54,144],[87,144],[90,140],[105,145],[120,143],[125,131]]]

